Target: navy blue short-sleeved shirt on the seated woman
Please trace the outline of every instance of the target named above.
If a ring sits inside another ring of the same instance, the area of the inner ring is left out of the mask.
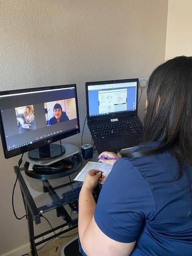
[[[153,142],[134,151],[157,146]],[[192,169],[187,171],[192,184]],[[178,162],[168,151],[120,158],[94,212],[100,230],[119,242],[136,240],[132,256],[192,256],[192,198],[186,176],[174,181],[177,174]]]

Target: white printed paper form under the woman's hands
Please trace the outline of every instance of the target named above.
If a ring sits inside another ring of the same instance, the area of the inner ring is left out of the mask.
[[[103,172],[103,175],[105,178],[102,180],[101,184],[104,184],[108,174],[110,173],[112,166],[109,164],[104,164],[100,162],[88,162],[84,168],[80,171],[80,173],[74,178],[76,181],[84,181],[84,178],[86,176],[86,173],[90,171],[91,169],[98,169]]]

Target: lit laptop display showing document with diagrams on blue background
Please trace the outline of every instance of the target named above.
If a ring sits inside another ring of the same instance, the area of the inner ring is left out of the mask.
[[[135,111],[137,82],[117,82],[88,85],[89,116]],[[111,81],[113,82],[113,81]]]

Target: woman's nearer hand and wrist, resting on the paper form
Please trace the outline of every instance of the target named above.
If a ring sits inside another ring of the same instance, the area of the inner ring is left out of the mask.
[[[82,188],[84,187],[89,190],[93,190],[98,183],[102,182],[104,177],[105,176],[102,175],[102,171],[97,169],[92,169],[86,174]]]

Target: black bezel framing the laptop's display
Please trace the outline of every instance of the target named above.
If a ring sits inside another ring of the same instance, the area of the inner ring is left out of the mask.
[[[133,111],[125,111],[119,113],[112,113],[106,115],[98,115],[98,116],[90,116],[89,115],[89,106],[88,106],[88,86],[90,85],[101,85],[101,84],[119,84],[119,83],[126,83],[126,82],[137,82],[136,85],[136,110]],[[108,80],[108,81],[98,81],[98,82],[86,82],[85,83],[85,90],[86,90],[86,107],[87,107],[87,120],[88,121],[97,121],[97,120],[105,120],[110,118],[120,118],[125,116],[135,116],[138,114],[138,88],[139,88],[139,79],[132,78],[132,79],[120,79],[120,80]]]

